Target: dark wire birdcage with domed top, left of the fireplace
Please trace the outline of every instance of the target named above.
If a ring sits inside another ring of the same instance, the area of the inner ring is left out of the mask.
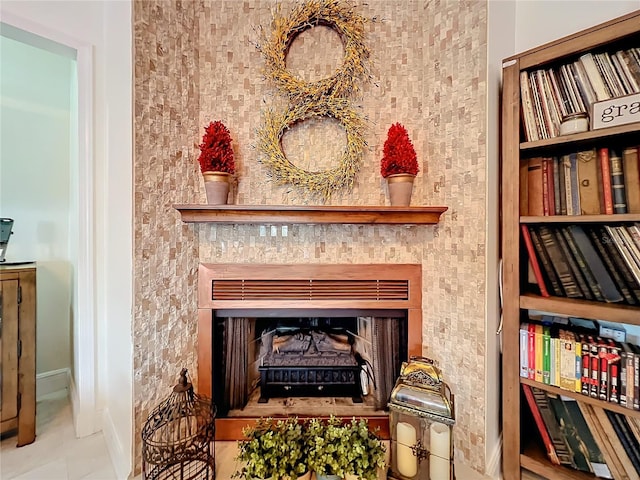
[[[215,479],[215,415],[210,399],[197,395],[187,370],[142,429],[145,480]]]

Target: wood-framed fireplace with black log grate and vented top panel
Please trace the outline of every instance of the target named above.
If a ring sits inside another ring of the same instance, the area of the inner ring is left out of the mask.
[[[198,391],[217,438],[329,413],[388,432],[400,363],[422,354],[420,265],[201,264],[198,290]]]

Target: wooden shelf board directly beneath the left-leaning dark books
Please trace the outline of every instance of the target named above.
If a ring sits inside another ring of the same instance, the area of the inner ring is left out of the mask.
[[[640,325],[640,308],[617,303],[592,302],[564,297],[542,297],[532,293],[520,295],[520,308],[555,312],[593,320]]]

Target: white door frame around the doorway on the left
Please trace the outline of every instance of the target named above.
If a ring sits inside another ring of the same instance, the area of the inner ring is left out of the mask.
[[[47,40],[64,45],[76,52],[77,112],[75,167],[72,175],[77,188],[72,202],[71,243],[76,247],[73,278],[73,369],[71,374],[71,403],[76,435],[84,437],[97,432],[100,420],[96,407],[96,272],[94,222],[94,134],[93,134],[93,49],[62,32],[3,12],[2,23],[35,34],[44,39],[37,46],[47,48]],[[26,42],[29,43],[29,42]],[[49,45],[55,49],[55,45]],[[73,112],[72,112],[73,114]]]

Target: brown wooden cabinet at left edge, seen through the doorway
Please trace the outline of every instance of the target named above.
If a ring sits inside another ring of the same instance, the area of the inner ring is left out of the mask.
[[[36,436],[36,268],[0,266],[1,432]]]

